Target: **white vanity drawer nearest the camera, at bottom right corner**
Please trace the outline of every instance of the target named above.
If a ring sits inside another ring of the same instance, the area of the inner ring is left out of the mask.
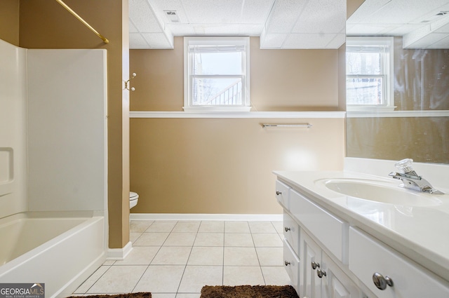
[[[449,297],[449,283],[368,234],[349,229],[349,270],[379,298]],[[373,274],[389,276],[392,286],[380,290]]]

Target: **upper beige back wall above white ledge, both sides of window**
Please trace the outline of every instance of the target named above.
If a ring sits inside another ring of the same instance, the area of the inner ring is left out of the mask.
[[[250,39],[253,111],[337,111],[338,50],[260,50]],[[182,111],[182,37],[173,50],[130,50],[131,111]]]

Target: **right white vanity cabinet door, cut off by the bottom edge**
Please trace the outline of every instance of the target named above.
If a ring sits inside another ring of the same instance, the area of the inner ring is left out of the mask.
[[[325,252],[321,253],[321,297],[360,298],[362,292]],[[325,275],[324,275],[325,274]]]

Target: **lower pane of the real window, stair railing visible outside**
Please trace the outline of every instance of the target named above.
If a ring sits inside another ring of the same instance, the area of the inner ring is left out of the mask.
[[[193,105],[242,104],[241,78],[194,78]]]

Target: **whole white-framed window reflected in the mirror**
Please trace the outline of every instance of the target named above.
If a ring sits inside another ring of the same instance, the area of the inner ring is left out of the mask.
[[[347,37],[347,110],[394,109],[393,38]]]

